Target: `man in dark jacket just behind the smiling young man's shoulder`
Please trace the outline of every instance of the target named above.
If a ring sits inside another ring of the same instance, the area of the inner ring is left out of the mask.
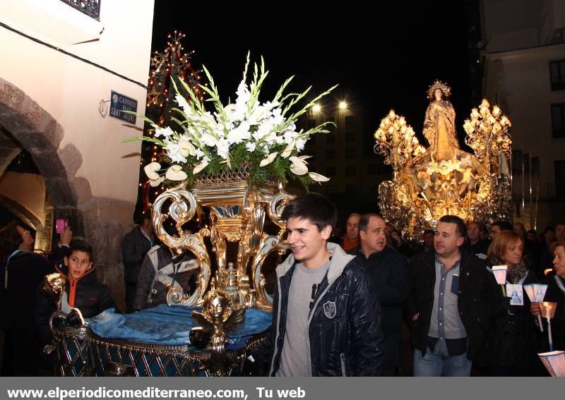
[[[379,214],[359,219],[360,244],[352,250],[367,270],[383,310],[383,376],[393,376],[398,364],[402,306],[408,298],[408,260],[386,246],[386,222]]]

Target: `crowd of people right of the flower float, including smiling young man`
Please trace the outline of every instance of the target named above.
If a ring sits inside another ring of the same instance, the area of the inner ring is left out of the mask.
[[[533,283],[557,303],[554,347],[565,349],[565,223],[538,236],[445,215],[417,243],[379,214],[352,213],[340,241],[335,207],[314,193],[284,217],[292,255],[277,268],[270,340],[254,354],[271,376],[547,375],[537,357],[549,351],[547,322],[537,325],[540,304],[523,289]]]

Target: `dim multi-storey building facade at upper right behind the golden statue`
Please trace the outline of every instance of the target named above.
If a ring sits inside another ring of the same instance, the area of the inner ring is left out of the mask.
[[[565,2],[482,0],[484,97],[512,121],[514,221],[565,220]]]

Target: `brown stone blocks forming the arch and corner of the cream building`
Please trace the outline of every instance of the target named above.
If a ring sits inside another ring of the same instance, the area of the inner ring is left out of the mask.
[[[97,277],[109,286],[119,307],[124,306],[124,268],[121,239],[132,229],[135,204],[93,196],[87,178],[76,173],[81,152],[59,143],[64,131],[22,90],[0,78],[0,124],[32,155],[51,195],[56,219],[68,219],[75,236],[93,246]],[[119,176],[119,175],[118,175]]]

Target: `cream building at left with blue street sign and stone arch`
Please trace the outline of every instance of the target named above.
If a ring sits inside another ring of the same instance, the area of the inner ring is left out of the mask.
[[[69,219],[75,235],[92,243],[99,279],[117,299],[123,298],[120,246],[131,229],[141,150],[139,142],[122,141],[141,135],[143,120],[124,121],[112,112],[135,102],[136,111],[145,112],[153,5],[0,3],[0,200],[14,211],[22,198],[35,197],[23,209],[38,235],[50,234],[54,219]],[[22,150],[39,170],[27,180],[34,185],[4,174]],[[51,213],[41,199],[50,199]]]

